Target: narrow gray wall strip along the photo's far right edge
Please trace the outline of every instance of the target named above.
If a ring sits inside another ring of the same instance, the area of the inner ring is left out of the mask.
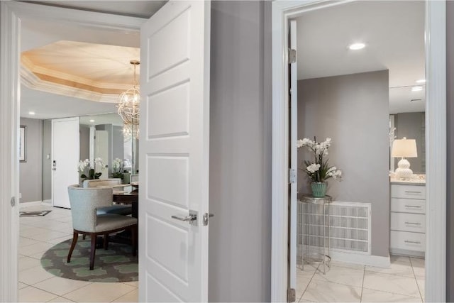
[[[446,301],[454,302],[454,1],[447,1],[447,209]]]

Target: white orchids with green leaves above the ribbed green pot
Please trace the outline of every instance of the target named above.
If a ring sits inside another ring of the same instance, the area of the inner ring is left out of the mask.
[[[304,160],[304,172],[309,176],[312,182],[326,182],[329,178],[334,180],[341,180],[342,171],[339,170],[336,166],[329,166],[328,159],[323,160],[323,157],[328,155],[328,148],[331,146],[331,138],[326,138],[326,141],[321,143],[311,141],[308,138],[297,141],[297,148],[306,147],[314,153],[314,160]]]

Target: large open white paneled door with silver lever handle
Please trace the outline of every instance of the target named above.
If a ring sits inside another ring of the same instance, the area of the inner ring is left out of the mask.
[[[208,300],[209,41],[209,1],[169,1],[140,31],[140,302]]]

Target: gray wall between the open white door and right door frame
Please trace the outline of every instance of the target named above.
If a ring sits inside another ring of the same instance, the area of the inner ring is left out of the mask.
[[[211,2],[210,302],[270,301],[271,60],[263,62],[270,50],[263,33],[265,28],[270,37],[265,6],[270,16],[263,2]]]

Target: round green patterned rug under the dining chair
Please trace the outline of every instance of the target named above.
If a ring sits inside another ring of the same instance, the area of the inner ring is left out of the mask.
[[[41,257],[43,268],[57,277],[90,282],[127,282],[138,280],[138,258],[131,254],[131,246],[109,243],[109,249],[96,248],[94,269],[89,270],[90,237],[79,236],[67,263],[72,239],[52,246]]]

